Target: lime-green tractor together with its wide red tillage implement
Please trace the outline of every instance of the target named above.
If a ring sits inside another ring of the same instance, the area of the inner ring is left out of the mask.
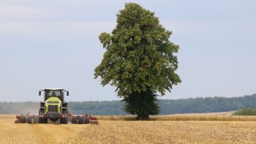
[[[15,123],[27,124],[98,124],[96,117],[91,115],[72,115],[68,112],[68,103],[64,102],[64,93],[69,96],[69,91],[62,88],[45,88],[44,102],[40,102],[39,115],[16,115]],[[41,95],[39,91],[39,96]]]

